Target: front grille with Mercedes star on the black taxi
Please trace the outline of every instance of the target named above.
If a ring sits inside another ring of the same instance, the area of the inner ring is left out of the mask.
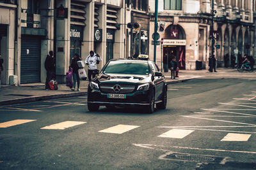
[[[108,94],[129,94],[132,93],[136,85],[133,84],[124,84],[124,83],[101,83],[100,90],[101,92]],[[118,90],[118,88],[120,90]]]

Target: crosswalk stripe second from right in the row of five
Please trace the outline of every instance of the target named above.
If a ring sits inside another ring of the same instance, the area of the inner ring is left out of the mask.
[[[164,132],[163,134],[161,134],[158,137],[182,139],[182,138],[188,136],[189,134],[191,134],[191,132],[194,132],[194,131],[186,130],[186,129],[172,129],[170,131]]]

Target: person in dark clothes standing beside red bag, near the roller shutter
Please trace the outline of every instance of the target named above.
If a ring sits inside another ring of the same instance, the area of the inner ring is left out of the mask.
[[[49,81],[51,81],[55,73],[54,63],[55,63],[55,59],[53,57],[53,52],[50,51],[49,55],[46,56],[46,59],[44,62],[44,67],[46,70],[45,90],[50,90]]]

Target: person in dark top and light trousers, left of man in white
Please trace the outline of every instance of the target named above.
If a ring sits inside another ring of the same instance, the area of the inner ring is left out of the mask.
[[[77,83],[77,91],[80,91],[79,87],[80,87],[80,78],[79,78],[79,74],[78,74],[78,69],[80,68],[77,64],[77,61],[82,60],[81,57],[79,57],[79,55],[77,53],[74,54],[74,57],[72,58],[71,61],[71,67],[72,67],[72,71],[73,71],[73,87],[71,90],[75,90],[76,89],[76,83]]]

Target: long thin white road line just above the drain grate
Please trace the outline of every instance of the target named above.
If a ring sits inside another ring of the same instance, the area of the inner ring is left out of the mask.
[[[136,144],[133,143],[134,146],[139,146],[142,148],[149,148],[149,149],[155,149],[155,147],[170,147],[170,148],[179,148],[179,149],[189,149],[189,150],[204,150],[204,151],[214,151],[214,152],[234,152],[234,153],[252,153],[256,154],[256,152],[250,152],[250,151],[241,151],[241,150],[217,150],[217,149],[207,149],[207,148],[191,148],[191,147],[184,147],[184,146],[163,146],[163,145],[150,145],[150,144]],[[163,150],[167,151],[167,150]]]

